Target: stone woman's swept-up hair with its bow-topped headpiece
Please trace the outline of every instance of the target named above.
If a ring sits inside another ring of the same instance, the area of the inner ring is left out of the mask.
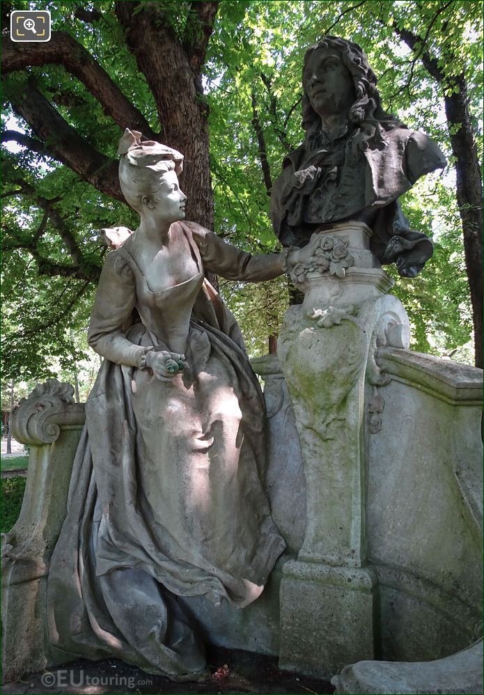
[[[159,189],[159,174],[175,171],[180,175],[183,155],[178,150],[153,140],[141,142],[141,133],[125,130],[119,141],[119,182],[127,203],[141,212],[143,196]]]

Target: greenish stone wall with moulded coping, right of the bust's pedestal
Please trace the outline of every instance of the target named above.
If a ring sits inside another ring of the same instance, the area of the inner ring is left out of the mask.
[[[479,634],[482,371],[391,348],[377,361],[391,377],[378,389],[381,429],[367,440],[382,656],[439,659]]]

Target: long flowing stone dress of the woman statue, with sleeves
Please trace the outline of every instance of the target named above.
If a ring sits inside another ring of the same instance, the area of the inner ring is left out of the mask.
[[[48,626],[70,653],[184,678],[205,656],[177,597],[242,608],[285,547],[263,488],[263,397],[203,270],[265,280],[281,274],[281,258],[238,251],[193,223],[171,230],[198,267],[185,282],[150,290],[130,254],[134,235],[104,263],[89,336],[106,359],[52,556]],[[140,356],[168,349],[160,336],[180,313],[189,366],[162,382]]]

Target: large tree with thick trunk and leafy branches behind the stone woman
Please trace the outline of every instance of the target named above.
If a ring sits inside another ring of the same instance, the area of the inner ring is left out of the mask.
[[[136,219],[113,156],[125,127],[185,154],[187,217],[213,226],[201,67],[217,4],[52,2],[49,42],[3,42],[2,140],[22,146],[3,171],[10,373],[45,376],[46,355],[75,357],[65,329],[86,325],[105,253],[95,230]],[[12,114],[24,132],[5,127]]]

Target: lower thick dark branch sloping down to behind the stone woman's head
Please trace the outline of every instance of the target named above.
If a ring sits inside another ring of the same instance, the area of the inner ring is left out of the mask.
[[[22,116],[42,139],[45,153],[58,159],[98,191],[124,201],[118,180],[118,163],[81,138],[33,84],[12,100],[15,113]]]

